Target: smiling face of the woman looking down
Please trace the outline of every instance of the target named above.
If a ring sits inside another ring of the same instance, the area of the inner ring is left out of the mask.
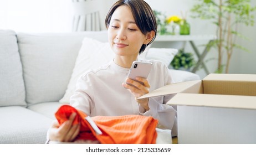
[[[137,27],[131,10],[127,6],[116,8],[107,30],[109,43],[116,55],[137,58],[146,36]]]

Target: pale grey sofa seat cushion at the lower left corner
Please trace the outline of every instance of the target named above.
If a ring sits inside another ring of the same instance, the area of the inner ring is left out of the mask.
[[[44,143],[53,120],[21,106],[0,108],[0,143]]]

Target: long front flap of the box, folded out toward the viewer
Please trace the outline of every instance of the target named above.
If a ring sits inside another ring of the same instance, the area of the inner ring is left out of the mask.
[[[256,96],[179,93],[167,105],[256,109]]]

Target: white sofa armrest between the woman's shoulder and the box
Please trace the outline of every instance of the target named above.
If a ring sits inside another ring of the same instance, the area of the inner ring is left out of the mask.
[[[193,81],[193,80],[200,80],[199,75],[191,73],[189,71],[169,69],[169,73],[171,74],[172,79],[175,83],[185,82],[185,81]]]

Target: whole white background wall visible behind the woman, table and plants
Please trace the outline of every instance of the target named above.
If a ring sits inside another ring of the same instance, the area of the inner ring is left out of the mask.
[[[116,0],[101,0],[102,27],[105,28],[104,19],[107,11]],[[208,21],[190,18],[190,9],[197,1],[191,0],[145,0],[153,9],[166,13],[167,16],[181,16],[181,11],[187,14],[187,20],[191,24],[191,34],[214,34],[215,28]],[[252,6],[256,1],[252,0]],[[13,29],[16,32],[71,32],[73,20],[73,7],[71,0],[0,0],[0,29]],[[255,17],[256,17],[256,13]],[[256,25],[256,23],[255,23]],[[231,61],[230,73],[256,74],[256,51],[254,35],[256,26],[242,27],[242,32],[252,41],[239,40],[251,53],[236,50]],[[197,45],[206,44],[207,40],[196,42]],[[192,51],[187,44],[187,51]],[[203,47],[199,46],[202,51]],[[212,49],[206,56],[206,60],[217,58],[217,51]],[[209,71],[212,73],[217,68],[217,60],[207,61]],[[203,70],[197,71],[202,78],[206,76]]]

